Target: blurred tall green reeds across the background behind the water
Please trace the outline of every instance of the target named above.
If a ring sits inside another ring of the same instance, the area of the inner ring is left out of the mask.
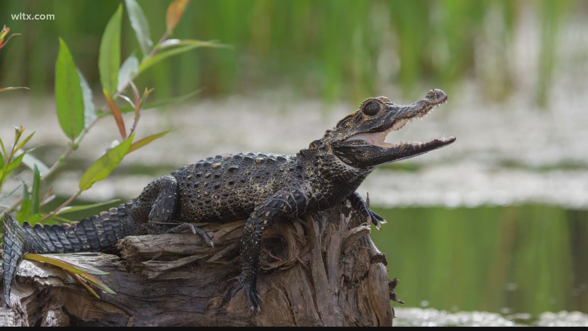
[[[169,2],[139,1],[153,36],[165,31],[161,14]],[[52,91],[59,35],[96,87],[100,37],[118,4],[1,1],[0,22],[9,22],[12,31],[26,38],[0,54],[0,85],[27,86],[36,95]],[[411,94],[418,82],[450,90],[452,83],[476,75],[486,82],[486,97],[500,98],[512,90],[508,54],[513,27],[523,11],[534,11],[541,24],[534,92],[537,102],[545,104],[559,27],[580,9],[586,10],[585,2],[574,0],[193,1],[174,37],[218,39],[234,49],[182,54],[158,64],[138,84],[157,85],[158,97],[199,87],[205,87],[205,95],[226,95],[277,84],[303,96],[357,102],[392,82]],[[10,18],[19,12],[55,14],[56,19],[28,24]],[[497,56],[489,69],[479,69],[478,62],[487,61],[476,54],[480,43],[492,45]],[[140,52],[128,19],[122,45],[123,54]]]

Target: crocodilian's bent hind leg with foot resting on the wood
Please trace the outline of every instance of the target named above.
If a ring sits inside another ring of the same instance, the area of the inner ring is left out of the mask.
[[[156,178],[139,194],[133,206],[133,217],[136,220],[149,221],[159,225],[158,230],[162,233],[200,234],[206,243],[214,247],[212,239],[206,234],[206,231],[193,226],[191,223],[177,223],[174,221],[174,216],[178,211],[177,197],[178,181],[175,177],[166,175]],[[169,226],[175,224],[179,225],[169,228]]]

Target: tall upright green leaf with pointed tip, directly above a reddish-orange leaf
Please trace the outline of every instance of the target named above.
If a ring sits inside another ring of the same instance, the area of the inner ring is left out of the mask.
[[[104,29],[100,42],[98,69],[102,88],[109,94],[116,93],[118,85],[118,68],[121,65],[121,19],[122,4],[118,6],[114,15]]]

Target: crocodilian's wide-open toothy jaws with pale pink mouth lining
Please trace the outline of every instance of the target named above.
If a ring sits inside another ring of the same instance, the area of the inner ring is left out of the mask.
[[[386,119],[386,122],[390,127],[380,132],[367,132],[358,133],[350,136],[343,140],[343,142],[353,145],[372,145],[380,147],[383,150],[404,150],[410,151],[410,154],[417,155],[426,153],[427,151],[435,150],[436,148],[443,147],[455,141],[455,137],[449,138],[436,138],[427,143],[421,143],[420,141],[415,142],[402,142],[398,144],[386,143],[386,137],[392,131],[398,131],[403,128],[407,123],[412,122],[415,118],[422,118],[433,111],[435,107],[439,107],[441,104],[447,103],[447,95],[441,90],[432,90],[427,94],[427,97],[423,100],[417,101],[410,105],[389,105],[390,109],[386,110],[390,112],[390,117]],[[386,123],[385,122],[385,123]],[[385,126],[387,126],[385,124]],[[380,127],[381,128],[381,127]]]

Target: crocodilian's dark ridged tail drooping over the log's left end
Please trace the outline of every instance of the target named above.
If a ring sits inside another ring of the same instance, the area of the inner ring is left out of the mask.
[[[21,226],[9,214],[4,215],[2,267],[4,299],[10,305],[10,286],[18,264],[27,253],[74,253],[76,251],[110,251],[119,239],[139,234],[131,221],[131,204],[121,204],[89,219],[61,225]]]

